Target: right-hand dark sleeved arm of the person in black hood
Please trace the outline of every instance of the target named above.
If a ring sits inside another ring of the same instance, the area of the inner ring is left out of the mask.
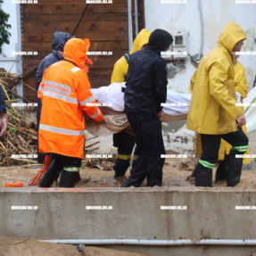
[[[159,62],[159,65],[154,72],[154,95],[157,103],[157,111],[160,112],[162,110],[161,103],[166,103],[167,97],[168,79],[165,62]]]

